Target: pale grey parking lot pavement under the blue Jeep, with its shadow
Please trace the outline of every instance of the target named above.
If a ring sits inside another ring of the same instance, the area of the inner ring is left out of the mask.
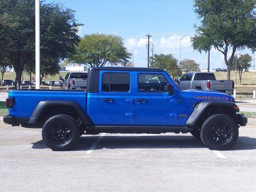
[[[47,148],[41,129],[0,122],[0,191],[256,190],[256,125],[233,150],[188,134],[84,135],[72,151]]]

